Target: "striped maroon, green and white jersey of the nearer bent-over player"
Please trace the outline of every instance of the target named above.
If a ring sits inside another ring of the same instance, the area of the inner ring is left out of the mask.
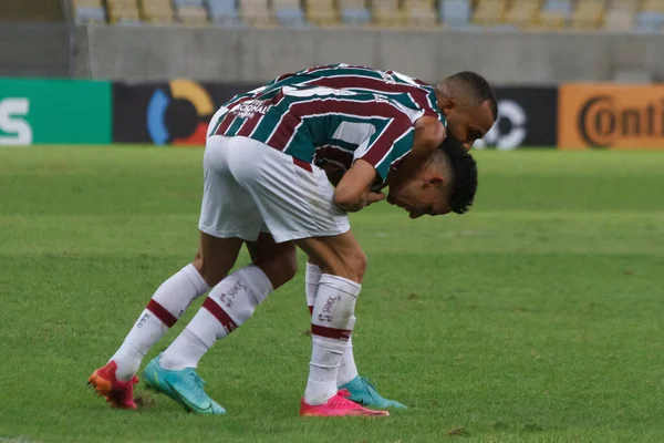
[[[424,115],[384,95],[278,82],[224,107],[210,135],[249,137],[320,167],[347,169],[362,158],[381,181],[411,152]]]

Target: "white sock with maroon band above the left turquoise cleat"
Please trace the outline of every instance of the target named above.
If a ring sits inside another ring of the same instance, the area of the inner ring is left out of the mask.
[[[159,364],[168,370],[196,368],[215,342],[247,321],[272,292],[268,276],[256,265],[245,266],[212,288],[187,328],[164,351]]]

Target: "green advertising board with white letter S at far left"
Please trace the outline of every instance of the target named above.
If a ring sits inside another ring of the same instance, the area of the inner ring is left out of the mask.
[[[111,141],[111,83],[0,79],[0,145]]]

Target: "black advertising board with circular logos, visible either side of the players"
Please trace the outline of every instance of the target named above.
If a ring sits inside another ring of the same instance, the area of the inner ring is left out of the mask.
[[[113,140],[200,146],[212,114],[234,95],[259,84],[116,83],[113,85]],[[557,87],[498,87],[499,119],[476,148],[554,147]]]

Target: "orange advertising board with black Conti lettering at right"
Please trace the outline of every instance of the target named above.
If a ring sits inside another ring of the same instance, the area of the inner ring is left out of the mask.
[[[664,150],[664,85],[560,86],[560,150]]]

